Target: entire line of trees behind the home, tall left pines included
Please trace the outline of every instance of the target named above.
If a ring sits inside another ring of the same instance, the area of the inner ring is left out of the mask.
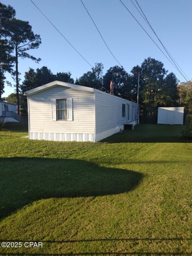
[[[30,58],[36,62],[36,58],[28,53],[41,44],[40,35],[32,32],[29,22],[15,18],[16,12],[11,6],[0,3],[0,100],[4,93],[5,73],[9,72],[15,81],[16,94],[10,94],[7,101],[17,104],[17,111],[27,111],[26,90],[36,88],[54,80],[79,84],[109,92],[110,81],[114,82],[114,94],[116,96],[137,101],[138,73],[139,104],[142,116],[149,116],[152,120],[157,115],[161,106],[185,106],[188,112],[192,112],[192,86],[191,83],[180,83],[173,72],[168,73],[164,64],[159,60],[148,57],[141,65],[134,66],[128,73],[121,66],[110,67],[103,74],[104,66],[96,63],[88,72],[74,79],[71,73],[57,72],[43,66],[42,68],[29,68],[25,72],[24,81],[19,79],[19,59]]]

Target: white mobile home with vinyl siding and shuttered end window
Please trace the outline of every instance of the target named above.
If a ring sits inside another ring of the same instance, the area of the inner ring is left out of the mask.
[[[34,140],[98,142],[138,122],[138,104],[94,88],[54,81],[26,95]]]

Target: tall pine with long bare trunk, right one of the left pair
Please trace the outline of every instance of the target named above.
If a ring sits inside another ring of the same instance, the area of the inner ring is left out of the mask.
[[[16,78],[16,95],[17,95],[17,113],[20,112],[19,104],[19,72],[18,59],[30,58],[35,62],[39,62],[40,58],[28,54],[28,50],[37,49],[41,44],[40,35],[32,32],[32,27],[29,22],[12,18],[6,26],[6,39],[8,43],[14,48],[15,60],[15,78]]]

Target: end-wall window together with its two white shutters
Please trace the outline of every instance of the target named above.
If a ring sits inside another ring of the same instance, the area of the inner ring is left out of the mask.
[[[51,100],[52,121],[73,120],[72,99],[52,99]]]

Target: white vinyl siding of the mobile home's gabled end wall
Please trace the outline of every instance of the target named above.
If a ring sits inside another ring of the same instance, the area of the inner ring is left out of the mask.
[[[52,114],[52,100],[68,99],[68,120],[58,120]],[[94,134],[94,93],[64,86],[55,86],[28,96],[30,132]],[[69,122],[72,121],[72,122]]]

